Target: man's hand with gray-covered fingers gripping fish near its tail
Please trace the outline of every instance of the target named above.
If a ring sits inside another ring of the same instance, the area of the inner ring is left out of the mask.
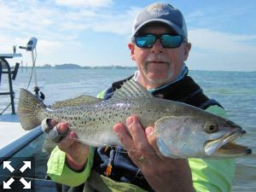
[[[47,125],[45,125],[47,124]],[[48,127],[47,127],[48,126]],[[90,148],[84,143],[80,143],[75,140],[77,135],[74,131],[68,130],[68,125],[65,123],[57,124],[55,119],[47,119],[42,122],[42,127],[46,127],[49,130],[45,131],[49,138],[51,138],[50,131],[57,131],[60,136],[65,136],[61,138],[60,141],[55,141],[61,151],[65,152],[66,160],[68,166],[70,166],[74,171],[79,171],[84,168],[86,160],[90,154]],[[55,130],[54,130],[55,129]]]

